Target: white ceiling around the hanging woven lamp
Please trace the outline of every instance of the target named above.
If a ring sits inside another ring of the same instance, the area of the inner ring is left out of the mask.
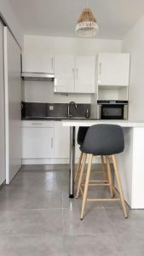
[[[144,14],[143,0],[9,0],[25,34],[76,37],[86,2],[100,26],[96,38],[122,39]]]

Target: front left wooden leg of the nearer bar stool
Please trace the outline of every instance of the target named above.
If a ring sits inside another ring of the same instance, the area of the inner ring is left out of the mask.
[[[86,180],[85,180],[85,185],[84,185],[84,195],[83,195],[83,202],[82,202],[81,219],[84,218],[84,208],[85,208],[85,202],[86,202],[87,194],[88,194],[89,177],[90,177],[92,159],[93,159],[93,154],[90,154],[89,155],[89,165],[88,165],[88,170],[87,170]]]

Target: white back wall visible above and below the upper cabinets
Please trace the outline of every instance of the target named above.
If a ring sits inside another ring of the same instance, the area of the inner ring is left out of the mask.
[[[120,52],[120,40],[88,38],[24,37],[23,57],[30,52],[49,55],[96,55],[99,52]],[[54,84],[49,82],[25,82],[26,102],[91,102],[90,95],[61,96],[54,93]]]

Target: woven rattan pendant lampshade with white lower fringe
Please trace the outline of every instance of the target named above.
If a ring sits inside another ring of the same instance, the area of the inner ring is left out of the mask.
[[[89,8],[84,9],[78,18],[78,24],[76,26],[78,36],[84,38],[94,37],[98,32],[98,29],[99,27],[92,11]]]

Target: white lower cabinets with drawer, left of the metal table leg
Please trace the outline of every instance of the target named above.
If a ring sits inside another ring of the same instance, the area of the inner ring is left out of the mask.
[[[22,121],[22,159],[27,164],[68,163],[70,129],[61,121]]]

